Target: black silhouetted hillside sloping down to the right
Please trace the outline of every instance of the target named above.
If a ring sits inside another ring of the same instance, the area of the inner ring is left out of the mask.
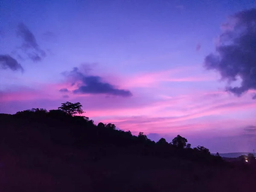
[[[256,191],[256,169],[61,111],[0,114],[0,192]]]

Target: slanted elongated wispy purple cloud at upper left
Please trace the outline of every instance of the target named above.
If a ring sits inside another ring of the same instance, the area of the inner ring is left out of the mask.
[[[20,23],[17,29],[17,36],[22,38],[21,49],[34,62],[41,61],[46,56],[44,50],[40,49],[35,36],[24,23]]]

